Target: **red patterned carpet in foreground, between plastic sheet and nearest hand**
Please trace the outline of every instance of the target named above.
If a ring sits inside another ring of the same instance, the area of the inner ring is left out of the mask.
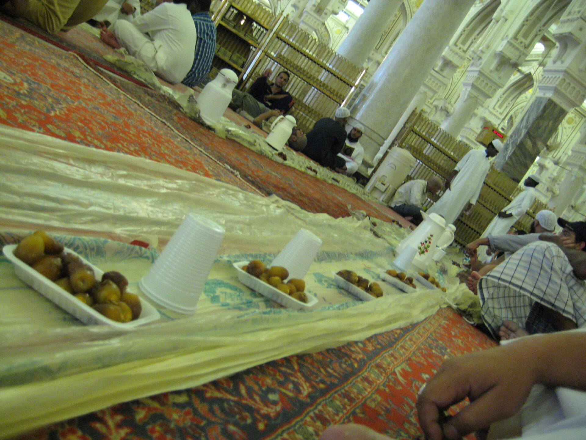
[[[316,440],[333,424],[420,434],[417,391],[447,357],[494,346],[452,309],[420,324],[289,356],[190,390],[96,411],[22,440]]]

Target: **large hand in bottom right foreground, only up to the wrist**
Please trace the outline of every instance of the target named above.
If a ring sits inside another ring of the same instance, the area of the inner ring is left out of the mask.
[[[417,400],[425,438],[460,439],[519,411],[536,382],[536,367],[513,346],[452,358],[442,365]],[[444,409],[466,397],[471,404],[442,423]]]

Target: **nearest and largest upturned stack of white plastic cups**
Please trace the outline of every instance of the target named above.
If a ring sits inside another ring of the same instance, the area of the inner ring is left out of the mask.
[[[138,285],[161,306],[195,313],[197,300],[216,259],[225,230],[216,222],[189,213]]]

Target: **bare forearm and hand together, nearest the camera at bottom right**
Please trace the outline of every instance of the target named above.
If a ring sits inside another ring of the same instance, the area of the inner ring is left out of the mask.
[[[421,390],[417,410],[429,440],[456,439],[515,414],[533,384],[586,390],[586,333],[527,336],[505,346],[452,358]],[[441,424],[444,409],[471,404]]]

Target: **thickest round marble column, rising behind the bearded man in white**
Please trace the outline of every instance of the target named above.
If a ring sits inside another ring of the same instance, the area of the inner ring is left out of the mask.
[[[415,12],[352,107],[366,127],[365,150],[372,154],[389,137],[473,3],[425,0]]]

